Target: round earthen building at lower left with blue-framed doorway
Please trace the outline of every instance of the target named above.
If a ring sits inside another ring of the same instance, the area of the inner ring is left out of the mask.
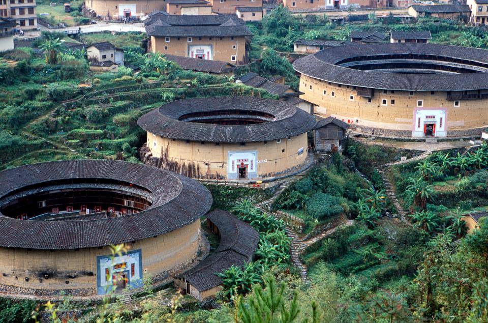
[[[0,291],[14,294],[104,294],[180,272],[212,203],[194,180],[120,161],[22,166],[0,183]],[[113,257],[117,244],[129,249]]]

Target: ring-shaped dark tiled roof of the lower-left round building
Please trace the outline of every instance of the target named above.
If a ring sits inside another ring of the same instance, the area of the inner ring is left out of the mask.
[[[79,249],[159,236],[189,225],[212,204],[210,192],[182,175],[138,163],[70,160],[33,164],[0,172],[0,200],[53,181],[106,179],[147,190],[153,204],[136,214],[90,221],[17,220],[0,213],[0,247]]]

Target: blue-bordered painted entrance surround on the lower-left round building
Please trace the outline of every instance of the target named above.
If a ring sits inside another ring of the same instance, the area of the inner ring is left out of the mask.
[[[97,293],[104,295],[118,292],[127,287],[142,287],[141,249],[132,250],[120,256],[97,257]]]

